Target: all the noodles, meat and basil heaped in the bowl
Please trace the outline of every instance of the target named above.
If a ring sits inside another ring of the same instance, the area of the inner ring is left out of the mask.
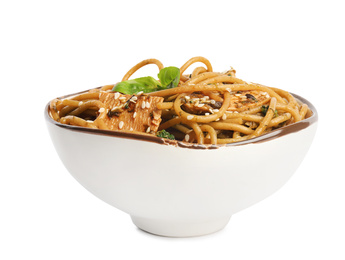
[[[184,74],[197,62],[206,68]],[[151,76],[129,79],[147,64],[158,66],[159,80]],[[180,68],[144,60],[121,82],[54,99],[49,111],[62,124],[211,145],[249,140],[311,115],[308,105],[289,92],[245,82],[233,68],[213,72],[203,57],[194,57]]]

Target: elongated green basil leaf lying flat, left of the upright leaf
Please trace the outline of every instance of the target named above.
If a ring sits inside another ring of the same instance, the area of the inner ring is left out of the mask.
[[[159,81],[155,80],[151,76],[148,76],[119,82],[113,87],[112,91],[132,95],[140,91],[149,93],[156,91],[157,89],[161,89],[161,84]]]

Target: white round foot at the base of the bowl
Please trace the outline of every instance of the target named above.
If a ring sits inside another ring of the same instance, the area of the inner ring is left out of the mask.
[[[194,237],[223,229],[231,216],[207,221],[169,221],[131,216],[133,223],[148,233],[166,237]]]

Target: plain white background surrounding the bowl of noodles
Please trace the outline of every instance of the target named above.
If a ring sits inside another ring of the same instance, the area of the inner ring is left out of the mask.
[[[342,2],[1,1],[0,259],[345,259]],[[193,56],[306,97],[319,128],[277,193],[218,233],[163,238],[69,175],[43,110],[143,59]]]

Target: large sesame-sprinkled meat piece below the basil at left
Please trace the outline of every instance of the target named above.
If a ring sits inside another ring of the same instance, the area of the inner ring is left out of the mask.
[[[100,112],[97,120],[102,120],[110,130],[157,132],[162,120],[162,111],[157,104],[164,98],[100,92],[99,100],[104,103],[105,110]]]

